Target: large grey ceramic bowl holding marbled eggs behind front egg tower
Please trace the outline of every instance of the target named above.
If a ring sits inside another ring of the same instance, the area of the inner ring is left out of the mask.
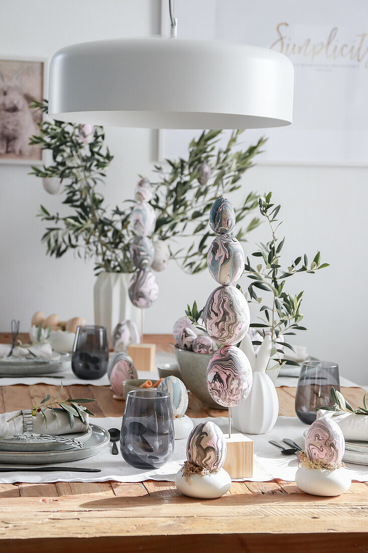
[[[212,409],[223,409],[222,406],[213,401],[207,389],[206,373],[212,354],[194,353],[175,347],[175,355],[181,379],[187,389],[191,390],[204,406]]]

